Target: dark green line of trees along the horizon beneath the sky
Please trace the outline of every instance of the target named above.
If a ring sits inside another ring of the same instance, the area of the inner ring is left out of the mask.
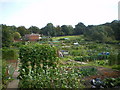
[[[7,26],[1,24],[2,27],[2,46],[9,47],[13,40],[20,39],[25,34],[42,34],[45,36],[66,36],[66,35],[84,35],[87,40],[107,42],[111,40],[120,40],[120,21],[114,20],[110,23],[100,25],[84,25],[79,22],[73,28],[72,25],[54,26],[48,23],[45,27],[38,28],[31,26],[28,29],[25,26]]]

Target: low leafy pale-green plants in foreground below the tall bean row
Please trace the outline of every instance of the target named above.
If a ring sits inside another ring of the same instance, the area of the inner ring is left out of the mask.
[[[20,88],[83,88],[79,74],[74,69],[71,71],[66,69],[66,67],[47,70],[39,68],[38,73],[36,69],[29,71],[29,74],[20,81]]]

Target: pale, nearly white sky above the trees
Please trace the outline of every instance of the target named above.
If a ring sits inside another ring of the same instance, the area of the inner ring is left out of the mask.
[[[118,20],[119,0],[0,0],[0,24],[99,25]]]

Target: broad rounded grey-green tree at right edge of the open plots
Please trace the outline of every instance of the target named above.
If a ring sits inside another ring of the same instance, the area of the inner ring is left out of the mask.
[[[100,42],[107,42],[114,39],[112,28],[104,25],[92,26],[84,35],[89,40]]]

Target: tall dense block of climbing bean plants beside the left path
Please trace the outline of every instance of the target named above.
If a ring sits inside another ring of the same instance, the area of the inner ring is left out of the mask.
[[[22,63],[20,69],[20,76],[22,76],[22,69],[25,69],[26,75],[29,69],[34,68],[47,69],[48,67],[56,67],[57,65],[56,48],[50,45],[24,45],[20,48],[20,61]],[[36,71],[36,72],[39,72]]]

